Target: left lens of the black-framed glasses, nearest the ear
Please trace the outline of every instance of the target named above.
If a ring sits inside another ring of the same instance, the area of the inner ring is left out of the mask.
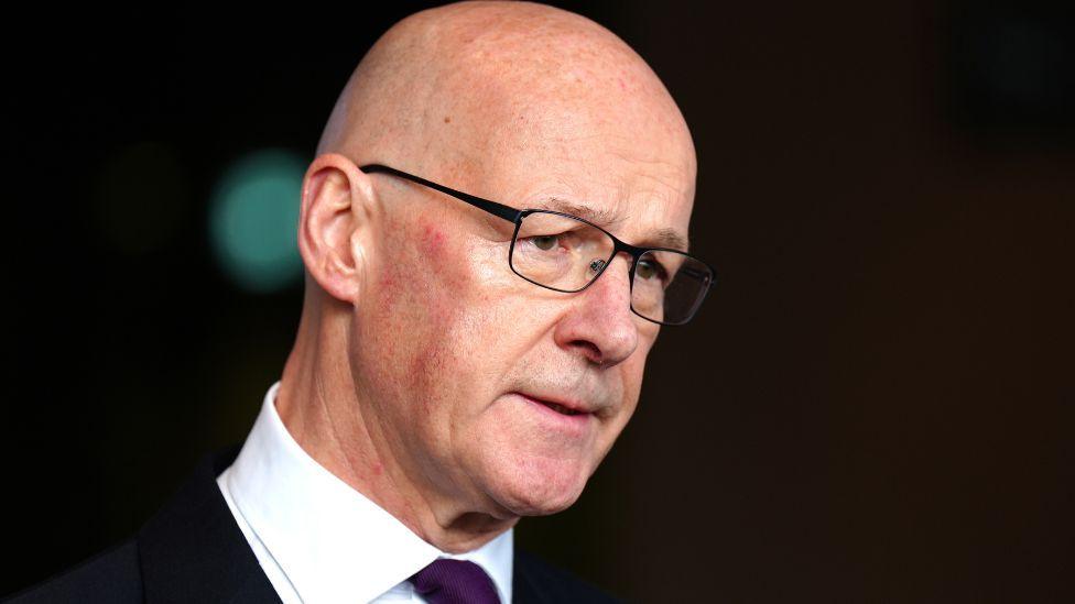
[[[577,218],[554,212],[526,215],[511,248],[511,270],[561,292],[578,292],[601,274],[616,244]]]

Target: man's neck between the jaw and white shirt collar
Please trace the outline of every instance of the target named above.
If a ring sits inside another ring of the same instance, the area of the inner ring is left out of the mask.
[[[398,459],[351,373],[339,369],[350,365],[339,337],[348,333],[349,314],[303,314],[276,395],[276,411],[298,446],[442,551],[470,551],[514,526],[518,516],[443,493]]]

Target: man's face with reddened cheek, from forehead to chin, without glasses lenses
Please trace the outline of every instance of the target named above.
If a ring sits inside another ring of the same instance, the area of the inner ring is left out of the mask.
[[[661,229],[685,237],[694,194],[685,130],[654,120],[626,131],[640,108],[601,102],[585,114],[513,105],[501,119],[521,116],[526,128],[477,135],[480,160],[395,165],[515,208],[555,198],[608,212],[615,220],[600,226],[629,243]],[[569,506],[633,414],[660,329],[630,310],[629,259],[617,256],[580,293],[544,289],[511,272],[511,223],[373,178],[383,212],[351,369],[394,457],[430,497],[470,509],[510,517]]]

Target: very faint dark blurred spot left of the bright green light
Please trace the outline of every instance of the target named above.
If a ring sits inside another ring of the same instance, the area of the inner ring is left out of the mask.
[[[141,255],[175,238],[189,209],[189,183],[172,150],[143,142],[112,155],[97,182],[101,235],[122,252]]]

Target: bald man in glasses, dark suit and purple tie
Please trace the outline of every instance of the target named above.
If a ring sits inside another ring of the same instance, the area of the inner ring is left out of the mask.
[[[241,451],[21,601],[607,601],[512,527],[578,498],[704,299],[694,180],[672,98],[599,25],[403,20],[306,173],[301,325]]]

